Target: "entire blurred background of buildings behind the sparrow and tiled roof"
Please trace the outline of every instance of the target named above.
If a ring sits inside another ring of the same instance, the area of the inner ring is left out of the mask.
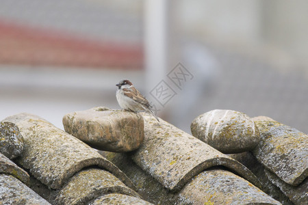
[[[0,120],[63,128],[130,79],[188,133],[212,109],[308,133],[307,25],[305,0],[0,0]]]

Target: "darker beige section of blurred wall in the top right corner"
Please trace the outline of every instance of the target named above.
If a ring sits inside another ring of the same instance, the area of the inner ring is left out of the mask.
[[[308,1],[271,0],[262,3],[262,36],[267,44],[308,65]]]

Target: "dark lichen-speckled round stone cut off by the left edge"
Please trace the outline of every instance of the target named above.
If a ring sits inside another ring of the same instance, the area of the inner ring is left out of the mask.
[[[23,136],[12,122],[0,122],[0,152],[14,159],[23,152]]]

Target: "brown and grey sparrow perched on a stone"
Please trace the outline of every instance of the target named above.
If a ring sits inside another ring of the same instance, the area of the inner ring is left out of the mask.
[[[159,122],[157,116],[152,111],[152,107],[146,98],[140,94],[140,92],[133,87],[133,83],[129,80],[122,80],[116,84],[118,86],[118,90],[116,91],[116,100],[118,100],[118,105],[122,109],[126,109],[128,111],[146,111],[147,113],[151,113],[151,115],[156,118]]]

